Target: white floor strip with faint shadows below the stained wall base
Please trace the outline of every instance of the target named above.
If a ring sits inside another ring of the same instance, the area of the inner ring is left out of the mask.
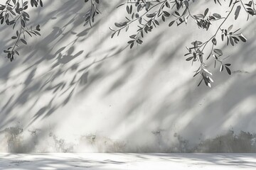
[[[0,169],[256,169],[256,154],[0,154]]]

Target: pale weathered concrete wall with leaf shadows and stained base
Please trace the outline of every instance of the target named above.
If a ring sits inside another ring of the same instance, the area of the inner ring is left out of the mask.
[[[41,24],[41,37],[21,45],[14,62],[2,52],[14,33],[1,26],[0,152],[255,152],[255,20],[245,22],[241,13],[234,23],[247,43],[218,45],[232,55],[233,74],[210,65],[215,82],[209,89],[197,87],[196,66],[183,55],[218,23],[208,32],[192,21],[179,28],[161,23],[129,50],[135,25],[110,38],[108,27],[125,16],[124,8],[115,9],[119,3],[103,1],[92,28],[83,26],[83,1],[32,8],[31,24]],[[211,13],[227,10],[199,1],[193,13],[206,6]]]

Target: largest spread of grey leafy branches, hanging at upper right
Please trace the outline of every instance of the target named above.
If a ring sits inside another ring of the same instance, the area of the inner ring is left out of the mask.
[[[222,5],[222,2],[219,0],[213,0],[215,4]],[[210,14],[209,8],[206,8],[204,13],[198,13],[196,15],[191,14],[190,6],[195,2],[194,0],[164,0],[164,1],[144,1],[144,0],[136,0],[136,1],[127,1],[124,4],[120,4],[117,7],[126,5],[126,10],[129,15],[129,18],[126,16],[124,22],[122,23],[114,23],[114,28],[110,28],[113,31],[112,38],[114,35],[119,35],[122,30],[129,30],[129,26],[132,23],[137,23],[139,29],[137,33],[130,35],[129,38],[132,40],[128,41],[130,48],[134,47],[134,44],[142,45],[144,38],[144,34],[150,33],[151,30],[157,28],[160,25],[160,21],[165,22],[166,18],[170,16],[174,16],[176,19],[169,23],[169,27],[174,26],[176,23],[177,26],[181,24],[187,24],[189,19],[196,21],[198,28],[208,30],[211,26],[211,23],[219,20],[223,20],[220,25],[218,26],[217,30],[215,30],[215,34],[205,42],[201,42],[200,40],[195,40],[191,42],[191,47],[186,47],[188,55],[186,61],[199,62],[199,67],[196,69],[195,74],[193,77],[197,75],[201,75],[202,79],[199,82],[198,86],[201,84],[202,81],[205,82],[206,86],[211,86],[210,83],[213,82],[213,79],[210,78],[212,73],[208,70],[208,64],[206,64],[206,60],[210,57],[213,57],[213,60],[216,63],[220,64],[220,72],[223,71],[225,68],[228,74],[231,74],[230,65],[229,63],[225,63],[223,60],[222,50],[215,48],[218,44],[217,35],[220,35],[221,40],[226,40],[227,45],[230,43],[232,46],[238,44],[239,41],[246,42],[246,38],[242,33],[239,33],[240,28],[237,30],[233,30],[233,25],[229,26],[228,28],[223,28],[223,24],[230,18],[230,14],[233,13],[235,10],[235,20],[238,18],[240,14],[240,10],[243,9],[247,13],[247,19],[249,16],[255,16],[255,2],[249,1],[245,4],[241,0],[230,0],[229,1],[229,10],[227,16],[221,16],[219,13]],[[242,6],[242,7],[241,7]],[[171,11],[173,10],[173,11]],[[169,12],[171,11],[171,12]],[[210,46],[211,50],[207,55],[204,51],[206,46]]]

